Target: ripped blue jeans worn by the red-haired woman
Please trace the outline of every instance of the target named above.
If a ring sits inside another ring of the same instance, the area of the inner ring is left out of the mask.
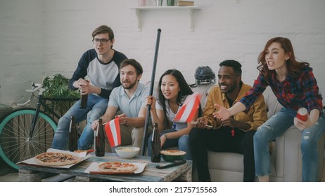
[[[255,173],[257,176],[270,174],[269,141],[281,136],[291,125],[297,111],[283,108],[261,125],[254,135]],[[302,181],[317,181],[317,141],[325,131],[324,113],[317,123],[302,131]]]

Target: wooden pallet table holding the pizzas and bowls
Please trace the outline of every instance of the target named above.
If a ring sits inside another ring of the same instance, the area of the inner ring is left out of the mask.
[[[84,172],[92,162],[146,162],[144,172],[140,174],[89,174]],[[91,155],[91,158],[79,162],[69,169],[42,167],[37,165],[19,164],[19,181],[117,181],[117,182],[167,182],[167,181],[187,181],[192,179],[192,162],[186,161],[184,165],[177,165],[166,169],[157,169],[150,157],[137,156],[133,159],[119,158],[115,153],[106,153],[103,157]]]

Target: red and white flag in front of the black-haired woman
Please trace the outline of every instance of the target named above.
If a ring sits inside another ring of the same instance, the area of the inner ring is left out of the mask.
[[[179,112],[176,114],[174,121],[191,123],[194,115],[200,105],[200,94],[193,93],[187,97]]]

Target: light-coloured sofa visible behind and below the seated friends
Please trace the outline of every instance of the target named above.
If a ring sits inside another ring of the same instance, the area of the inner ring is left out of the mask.
[[[193,92],[202,93],[200,103],[205,107],[206,97],[210,85],[198,85],[192,87]],[[277,102],[272,90],[267,87],[263,93],[267,104],[267,116],[271,117],[282,106]],[[279,122],[281,123],[281,122]],[[301,181],[302,180],[302,157],[300,151],[301,132],[295,126],[291,126],[281,137],[272,141],[271,175],[270,181]],[[319,181],[324,166],[324,141],[325,134],[318,141]],[[212,181],[239,182],[243,181],[243,155],[238,153],[217,153],[208,151],[208,167]],[[196,172],[193,170],[193,181],[196,181]],[[257,179],[255,179],[257,181]]]

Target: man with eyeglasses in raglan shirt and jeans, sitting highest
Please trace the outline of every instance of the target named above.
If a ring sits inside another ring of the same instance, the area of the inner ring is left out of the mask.
[[[114,87],[121,85],[120,63],[127,57],[122,52],[113,49],[115,42],[113,30],[102,25],[97,27],[91,36],[94,49],[84,52],[69,81],[69,87],[72,90],[79,88],[81,94],[88,94],[87,107],[81,109],[79,100],[60,118],[53,137],[52,148],[65,150],[68,144],[70,118],[75,116],[76,123],[87,119],[87,125],[78,140],[78,149],[89,149],[94,141],[91,123],[103,116],[108,106],[110,92]]]

